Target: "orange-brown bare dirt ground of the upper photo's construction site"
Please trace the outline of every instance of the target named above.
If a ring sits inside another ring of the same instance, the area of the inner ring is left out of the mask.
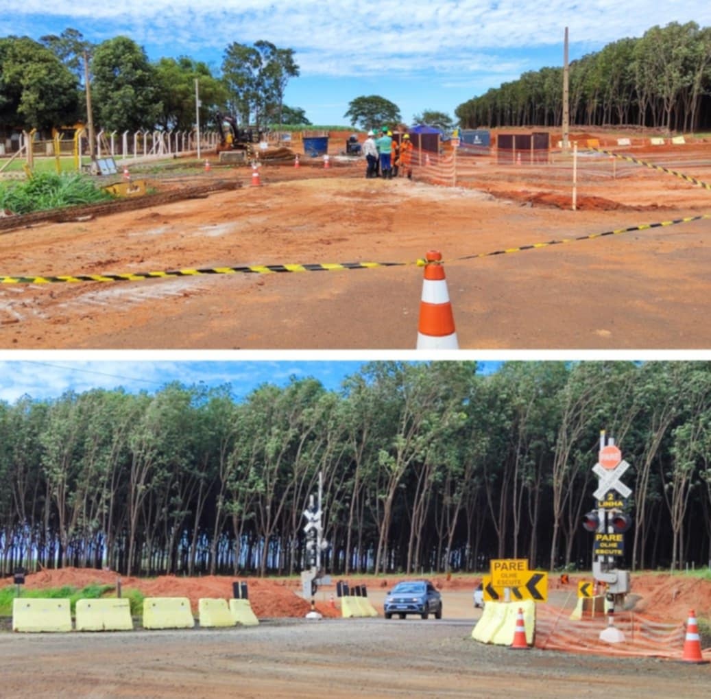
[[[428,250],[460,348],[711,347],[711,139],[573,135],[574,163],[411,179],[366,179],[343,135],[328,167],[129,163],[141,203],[0,218],[0,348],[413,349]]]

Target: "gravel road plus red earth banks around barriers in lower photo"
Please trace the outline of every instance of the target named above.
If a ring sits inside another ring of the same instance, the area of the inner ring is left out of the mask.
[[[336,585],[316,593],[321,619],[297,579],[247,579],[255,626],[133,631],[11,633],[0,631],[3,697],[337,699],[372,697],[701,698],[711,682],[711,648],[702,662],[683,659],[690,614],[711,617],[711,583],[691,575],[633,577],[616,624],[623,642],[599,634],[604,614],[572,621],[579,576],[549,575],[547,602],[536,604],[535,636],[526,649],[475,641],[481,618],[473,575],[431,577],[442,594],[442,619],[384,619],[385,592],[401,577],[352,578],[368,585],[378,617],[342,618]],[[122,589],[146,597],[230,597],[230,577],[124,577]],[[42,570],[26,589],[114,585],[108,570]],[[242,579],[244,582],[244,579]],[[12,580],[7,580],[11,585]],[[109,592],[115,594],[115,592]],[[196,614],[197,618],[197,614]],[[708,637],[705,636],[707,644]],[[698,644],[697,644],[698,645]]]

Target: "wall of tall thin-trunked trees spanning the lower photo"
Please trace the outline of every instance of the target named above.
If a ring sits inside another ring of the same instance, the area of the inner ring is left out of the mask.
[[[711,557],[711,364],[363,365],[315,378],[0,403],[0,572],[292,574],[324,481],[326,570],[592,566],[599,432],[631,464],[622,565]]]

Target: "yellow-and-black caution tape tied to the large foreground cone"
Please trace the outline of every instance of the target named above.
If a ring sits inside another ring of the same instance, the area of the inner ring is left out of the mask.
[[[594,240],[604,238],[606,235],[621,235],[622,233],[632,233],[635,230],[650,230],[651,228],[665,228],[679,223],[691,223],[711,218],[711,214],[704,213],[685,218],[675,218],[670,221],[659,221],[658,223],[643,223],[629,228],[616,228],[606,230],[604,233],[589,233],[589,235],[577,235],[574,238],[560,238],[558,240],[548,240],[547,242],[534,242],[530,245],[520,245],[519,247],[508,247],[503,250],[493,252],[480,252],[477,255],[464,255],[464,257],[454,257],[455,260],[476,260],[479,257],[494,257],[496,255],[509,255],[512,252],[523,252],[524,250],[537,250],[540,247],[550,247],[551,245],[561,245],[565,242],[577,242],[579,240]],[[415,262],[332,262],[313,263],[306,265],[240,265],[237,267],[202,267],[196,270],[168,270],[165,272],[127,272],[125,274],[62,274],[57,276],[0,276],[0,284],[60,284],[64,282],[139,282],[142,279],[166,279],[170,277],[199,277],[205,274],[279,274],[280,272],[333,272],[338,270],[372,270],[376,267],[407,267],[416,265],[424,267],[427,260],[416,260]]]

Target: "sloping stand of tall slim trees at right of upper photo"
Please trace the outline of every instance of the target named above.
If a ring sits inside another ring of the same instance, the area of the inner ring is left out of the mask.
[[[711,127],[711,28],[653,26],[570,63],[570,123],[667,132]],[[461,127],[562,124],[563,68],[528,71],[454,110]]]

